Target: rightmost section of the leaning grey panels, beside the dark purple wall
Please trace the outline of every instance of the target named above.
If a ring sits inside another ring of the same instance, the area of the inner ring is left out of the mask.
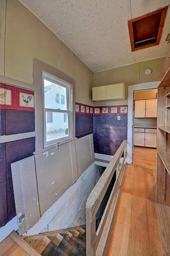
[[[94,162],[94,148],[92,134],[75,141],[78,176]]]

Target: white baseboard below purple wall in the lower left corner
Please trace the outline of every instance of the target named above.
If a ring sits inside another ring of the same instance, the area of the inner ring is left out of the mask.
[[[13,230],[18,229],[17,216],[0,228],[0,242],[2,242]]]

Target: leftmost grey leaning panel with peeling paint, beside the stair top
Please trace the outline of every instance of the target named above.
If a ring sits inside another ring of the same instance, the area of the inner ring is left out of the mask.
[[[11,169],[18,229],[21,235],[40,218],[34,157],[11,164]]]

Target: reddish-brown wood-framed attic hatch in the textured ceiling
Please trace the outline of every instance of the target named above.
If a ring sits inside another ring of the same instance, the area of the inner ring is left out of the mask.
[[[128,21],[132,52],[160,43],[167,9],[168,6]]]

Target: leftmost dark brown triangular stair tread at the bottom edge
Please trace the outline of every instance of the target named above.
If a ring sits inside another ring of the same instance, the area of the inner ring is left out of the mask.
[[[50,243],[46,246],[46,248],[43,250],[41,255],[42,256],[68,256],[52,241],[50,241]]]

